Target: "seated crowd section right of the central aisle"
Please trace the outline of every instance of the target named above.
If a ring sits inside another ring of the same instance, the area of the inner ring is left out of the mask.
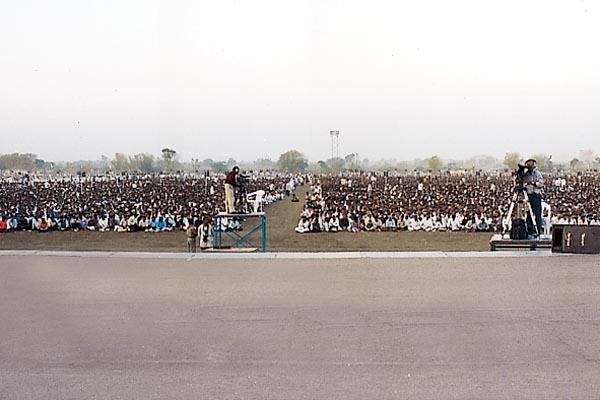
[[[544,177],[542,233],[552,224],[600,224],[600,174]],[[343,173],[311,182],[295,231],[502,232],[510,173]]]

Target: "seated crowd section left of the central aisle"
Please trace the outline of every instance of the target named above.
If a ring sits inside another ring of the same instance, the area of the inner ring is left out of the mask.
[[[222,175],[103,174],[0,178],[0,232],[162,232],[199,227],[205,216],[223,211]],[[248,193],[260,192],[260,206],[281,200],[286,174],[250,173]],[[239,229],[235,218],[225,229]]]

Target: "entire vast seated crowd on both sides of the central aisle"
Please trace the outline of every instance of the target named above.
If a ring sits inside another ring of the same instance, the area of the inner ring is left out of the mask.
[[[600,224],[600,174],[544,175],[543,232],[553,224]],[[0,177],[0,232],[161,232],[199,226],[223,211],[223,175],[105,174]],[[514,193],[509,173],[392,175],[250,174],[260,207],[307,183],[295,231],[467,231],[506,229]],[[295,195],[294,195],[295,199]],[[239,221],[231,218],[238,229]]]

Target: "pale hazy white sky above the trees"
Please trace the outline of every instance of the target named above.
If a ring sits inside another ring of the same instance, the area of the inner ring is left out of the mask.
[[[600,152],[592,0],[19,0],[0,38],[0,153]]]

